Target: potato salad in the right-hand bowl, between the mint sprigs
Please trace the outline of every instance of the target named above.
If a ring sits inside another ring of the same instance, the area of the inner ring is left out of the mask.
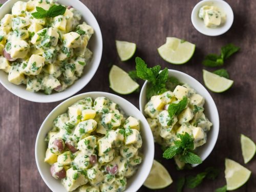
[[[169,105],[178,104],[184,98],[187,100],[184,110],[171,118],[168,112]],[[155,142],[167,148],[179,139],[177,134],[188,133],[194,138],[194,150],[205,144],[206,134],[212,123],[205,117],[203,105],[204,98],[187,84],[178,85],[173,92],[165,91],[153,96],[146,103],[144,112]],[[184,167],[185,163],[181,162],[178,156],[174,159],[179,168]]]

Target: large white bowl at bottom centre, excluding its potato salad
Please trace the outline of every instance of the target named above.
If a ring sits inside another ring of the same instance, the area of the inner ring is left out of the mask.
[[[35,143],[35,159],[36,165],[42,179],[45,181],[47,186],[54,192],[66,191],[65,187],[60,183],[59,180],[54,179],[50,174],[50,165],[44,162],[45,153],[47,145],[45,142],[45,137],[47,133],[52,129],[53,120],[60,114],[65,113],[68,107],[75,103],[76,101],[84,97],[92,97],[96,99],[97,97],[104,96],[110,100],[116,102],[120,108],[124,111],[126,115],[134,116],[139,119],[141,127],[142,136],[142,153],[143,161],[139,165],[139,169],[136,174],[127,180],[126,192],[137,191],[141,185],[146,180],[148,174],[150,173],[151,166],[154,159],[154,139],[145,117],[140,113],[140,111],[129,101],[119,97],[117,95],[105,92],[89,92],[76,95],[63,101],[46,117],[45,121],[42,123],[40,130],[36,137]]]

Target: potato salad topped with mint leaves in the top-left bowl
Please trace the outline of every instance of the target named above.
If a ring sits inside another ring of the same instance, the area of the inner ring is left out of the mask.
[[[71,6],[59,6],[54,0],[18,1],[1,19],[0,69],[28,91],[67,89],[92,57],[87,45],[93,28]]]

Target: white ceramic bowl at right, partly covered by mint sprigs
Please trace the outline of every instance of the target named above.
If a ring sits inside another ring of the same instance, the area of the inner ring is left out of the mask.
[[[198,82],[195,78],[176,70],[168,70],[168,75],[176,77],[182,83],[187,83],[191,88],[195,89],[196,92],[205,98],[204,113],[205,116],[212,122],[211,130],[207,133],[207,141],[204,145],[197,148],[197,154],[204,161],[214,149],[216,141],[219,135],[219,114],[214,102],[214,99],[210,96],[209,92]],[[140,92],[140,111],[144,114],[144,106],[147,103],[146,99],[146,85],[144,83]],[[193,165],[197,166],[197,165]]]

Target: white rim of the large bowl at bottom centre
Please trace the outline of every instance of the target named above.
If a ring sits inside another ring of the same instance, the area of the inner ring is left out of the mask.
[[[139,111],[138,108],[136,108],[136,106],[131,103],[130,101],[118,96],[118,95],[115,95],[115,94],[112,94],[112,93],[108,93],[108,92],[87,92],[87,93],[81,93],[79,95],[75,95],[65,101],[62,101],[60,104],[58,104],[48,115],[47,117],[45,118],[45,120],[42,122],[42,124],[40,125],[40,129],[38,130],[38,133],[37,133],[37,136],[36,136],[36,141],[35,141],[35,161],[36,161],[36,166],[37,166],[37,170],[42,178],[42,180],[44,180],[45,184],[52,190],[52,191],[55,191],[53,188],[53,186],[51,186],[48,181],[47,181],[47,178],[45,177],[44,174],[42,174],[42,169],[40,167],[40,159],[38,157],[39,155],[39,137],[42,137],[42,131],[47,129],[46,127],[46,123],[48,122],[48,119],[52,116],[52,114],[54,114],[56,111],[59,110],[59,108],[61,108],[62,105],[65,105],[66,103],[69,103],[71,100],[73,100],[74,102],[80,100],[82,97],[87,97],[87,96],[91,96],[91,97],[94,97],[94,95],[101,95],[103,97],[106,97],[108,98],[108,96],[110,97],[114,97],[115,99],[120,99],[124,102],[125,105],[129,105],[131,106],[132,108],[134,108],[134,114],[135,113],[138,113],[141,115],[141,118],[140,119],[140,123],[143,124],[143,132],[144,134],[142,135],[142,139],[143,139],[143,143],[147,143],[147,147],[150,149],[148,150],[148,153],[147,154],[143,154],[143,161],[144,163],[146,163],[145,165],[143,164],[143,169],[140,169],[140,167],[142,165],[139,166],[139,169],[137,170],[136,174],[138,172],[142,172],[143,171],[143,174],[140,174],[140,176],[142,175],[142,177],[140,177],[139,179],[136,178],[134,181],[138,180],[137,182],[139,182],[136,186],[134,186],[132,188],[132,190],[126,190],[126,192],[133,192],[133,191],[137,191],[144,183],[144,181],[146,180],[147,176],[150,174],[150,170],[151,170],[151,167],[153,165],[153,160],[154,160],[154,154],[155,154],[155,144],[154,144],[154,138],[153,138],[153,134],[151,132],[151,129],[150,129],[150,126],[148,125],[147,121],[146,121],[146,118],[144,117],[144,115]],[[97,96],[98,97],[98,96]],[[113,99],[112,99],[113,100]],[[74,103],[72,101],[72,103]],[[119,104],[119,103],[118,103]],[[121,104],[120,104],[121,106]],[[123,107],[121,107],[123,109]],[[125,110],[124,110],[125,111]],[[59,114],[60,115],[60,114]],[[132,114],[131,114],[132,115]],[[144,121],[144,122],[142,122]],[[49,131],[51,130],[51,128],[48,128]],[[145,134],[146,133],[146,134]],[[146,141],[146,142],[144,142]],[[143,146],[143,145],[142,145]],[[146,157],[146,158],[145,158]],[[135,176],[135,175],[134,175]],[[131,178],[133,178],[134,176],[132,176]],[[138,177],[138,176],[137,176]],[[52,178],[53,179],[53,178]],[[129,178],[130,179],[130,178]],[[59,184],[61,185],[61,183],[59,182]]]

